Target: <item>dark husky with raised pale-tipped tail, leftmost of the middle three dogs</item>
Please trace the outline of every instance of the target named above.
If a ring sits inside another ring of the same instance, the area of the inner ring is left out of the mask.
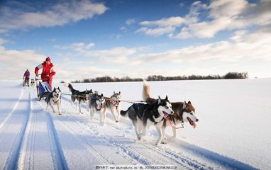
[[[64,86],[67,86],[70,89],[70,91],[72,92],[72,96],[71,96],[72,104],[75,101],[78,101],[77,106],[79,106],[79,113],[83,114],[82,110],[81,110],[82,103],[86,104],[87,110],[89,111],[89,98],[93,95],[92,89],[90,91],[87,89],[86,89],[86,91],[78,91],[78,90],[73,89],[72,84],[66,83],[66,84],[64,84]]]

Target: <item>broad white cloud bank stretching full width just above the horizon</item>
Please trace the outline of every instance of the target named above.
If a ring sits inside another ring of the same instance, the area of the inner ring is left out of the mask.
[[[258,71],[253,71],[244,63],[249,61],[254,65],[263,61],[262,63],[268,65],[271,62],[270,45],[271,33],[265,30],[255,30],[253,33],[248,30],[238,30],[228,41],[191,45],[156,53],[147,52],[147,47],[114,47],[94,50],[92,43],[77,42],[66,47],[59,47],[60,49],[67,48],[68,54],[72,50],[75,55],[70,57],[63,54],[62,56],[66,58],[62,57],[61,62],[60,60],[56,62],[56,58],[53,59],[57,71],[55,81],[82,80],[104,75],[111,77],[126,75],[146,77],[150,74],[223,75],[233,71],[248,71],[248,74],[257,75]],[[30,69],[33,74],[34,67],[43,62],[45,57],[33,50],[6,50],[0,45],[0,70],[5,72],[0,75],[0,79],[21,79],[25,69]],[[208,67],[203,63],[209,63]],[[187,65],[189,67],[186,67]],[[257,67],[261,70],[269,68]]]

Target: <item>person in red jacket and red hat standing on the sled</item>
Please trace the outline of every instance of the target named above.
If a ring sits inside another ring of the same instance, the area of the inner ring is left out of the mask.
[[[35,67],[35,75],[38,77],[38,70],[43,69],[41,73],[41,79],[43,82],[47,81],[52,89],[52,76],[55,75],[54,65],[51,62],[50,57],[47,57],[45,62]]]

